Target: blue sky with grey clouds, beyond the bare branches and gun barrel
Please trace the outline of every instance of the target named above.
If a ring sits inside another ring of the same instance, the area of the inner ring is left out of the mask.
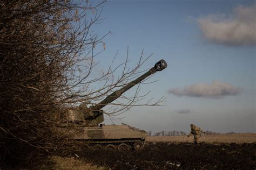
[[[122,120],[112,121],[146,131],[188,132],[193,123],[216,132],[255,133],[255,3],[105,3],[105,19],[93,30],[102,35],[108,31],[113,34],[104,39],[106,49],[96,58],[99,67],[106,69],[116,53],[117,63],[125,61],[127,46],[130,67],[136,65],[143,49],[144,58],[153,53],[143,69],[151,68],[160,59],[168,63],[163,72],[149,80],[158,82],[141,86],[142,93],[151,90],[147,98],[165,96],[164,106],[136,107],[119,116],[125,117]],[[240,27],[230,34],[236,24]],[[254,29],[251,36],[250,29]],[[96,48],[101,50],[103,46]],[[216,90],[221,92],[214,94]],[[105,119],[106,124],[111,123]]]

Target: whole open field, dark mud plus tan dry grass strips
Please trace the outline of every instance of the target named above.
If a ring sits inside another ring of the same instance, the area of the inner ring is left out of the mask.
[[[149,137],[142,151],[73,151],[53,169],[255,169],[256,134]]]

